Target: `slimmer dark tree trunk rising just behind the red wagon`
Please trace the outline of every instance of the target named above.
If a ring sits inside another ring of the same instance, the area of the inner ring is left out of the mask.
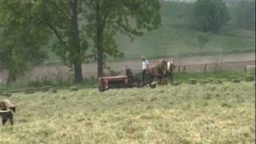
[[[98,50],[98,78],[101,78],[103,75],[103,26],[102,26],[102,15],[100,12],[99,2],[96,1],[96,43]]]

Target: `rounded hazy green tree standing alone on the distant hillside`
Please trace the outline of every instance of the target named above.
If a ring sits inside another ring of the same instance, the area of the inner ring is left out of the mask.
[[[223,0],[198,0],[193,19],[198,30],[216,31],[230,20],[230,14]]]

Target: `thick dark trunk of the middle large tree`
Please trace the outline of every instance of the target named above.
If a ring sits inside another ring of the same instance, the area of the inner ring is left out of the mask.
[[[81,59],[81,47],[80,47],[80,37],[78,31],[78,0],[70,0],[70,46],[72,49],[72,54],[74,55],[71,61],[74,64],[74,82],[82,82],[82,59]]]

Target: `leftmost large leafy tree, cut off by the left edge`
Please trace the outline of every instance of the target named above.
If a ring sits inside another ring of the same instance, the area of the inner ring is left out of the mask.
[[[34,20],[31,8],[26,1],[0,1],[0,69],[8,71],[7,83],[46,57],[42,46],[50,31]]]

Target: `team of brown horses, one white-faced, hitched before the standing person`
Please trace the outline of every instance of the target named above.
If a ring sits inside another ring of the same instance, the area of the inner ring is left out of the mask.
[[[147,69],[148,84],[151,84],[156,78],[159,84],[167,84],[169,80],[173,83],[174,68],[173,61],[158,60]]]

